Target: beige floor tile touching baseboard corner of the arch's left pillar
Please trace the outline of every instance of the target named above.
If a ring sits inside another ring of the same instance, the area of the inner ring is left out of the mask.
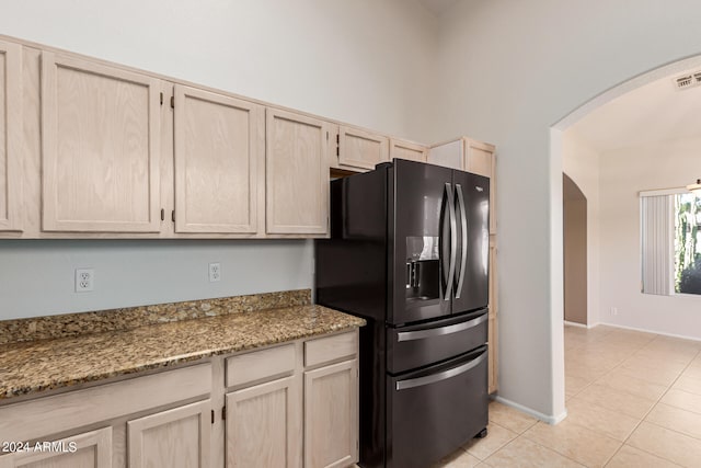
[[[558,425],[539,422],[522,435],[588,467],[602,467],[621,442],[565,420]]]

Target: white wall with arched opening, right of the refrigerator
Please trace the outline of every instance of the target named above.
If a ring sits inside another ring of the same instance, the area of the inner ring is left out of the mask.
[[[694,0],[471,0],[444,16],[430,139],[497,147],[499,396],[564,414],[562,157],[549,128],[631,77],[701,53]]]

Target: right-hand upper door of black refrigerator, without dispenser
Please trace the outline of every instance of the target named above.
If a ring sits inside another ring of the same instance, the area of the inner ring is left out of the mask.
[[[452,182],[458,217],[452,312],[462,313],[489,303],[490,180],[455,171]]]

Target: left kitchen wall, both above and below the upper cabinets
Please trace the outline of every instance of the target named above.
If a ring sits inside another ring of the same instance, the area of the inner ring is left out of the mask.
[[[415,1],[0,0],[0,34],[422,138],[436,20]],[[312,287],[310,241],[0,241],[0,320]],[[209,284],[206,265],[221,262]],[[77,266],[95,290],[72,292]]]

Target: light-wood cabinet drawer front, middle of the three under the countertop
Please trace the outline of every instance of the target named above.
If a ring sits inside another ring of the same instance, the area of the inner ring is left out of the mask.
[[[227,387],[292,374],[295,345],[271,347],[227,358]]]

